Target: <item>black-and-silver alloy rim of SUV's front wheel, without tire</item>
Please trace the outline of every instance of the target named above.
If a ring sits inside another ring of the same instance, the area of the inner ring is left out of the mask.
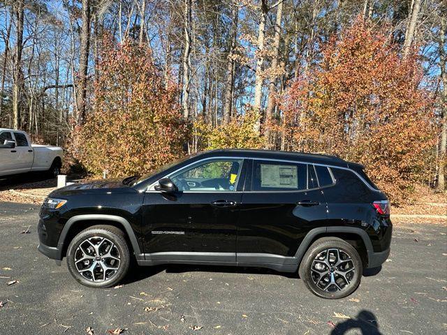
[[[89,281],[107,281],[121,264],[117,246],[105,237],[89,237],[75,251],[75,267]]]

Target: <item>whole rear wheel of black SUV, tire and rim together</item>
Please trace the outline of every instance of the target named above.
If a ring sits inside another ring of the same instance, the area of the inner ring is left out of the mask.
[[[337,264],[335,259],[337,262],[342,260],[338,267],[334,266]],[[321,271],[316,267],[322,268]],[[340,275],[341,271],[345,276]],[[323,237],[316,240],[305,253],[299,274],[314,295],[325,299],[341,299],[358,288],[362,271],[362,259],[356,248],[337,237]]]

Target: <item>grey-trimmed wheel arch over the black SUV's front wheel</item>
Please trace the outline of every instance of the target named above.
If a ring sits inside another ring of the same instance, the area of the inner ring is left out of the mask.
[[[135,253],[138,259],[142,255],[138,239],[133,232],[132,226],[122,216],[106,215],[106,214],[84,214],[73,216],[68,219],[64,225],[64,229],[59,236],[58,248],[60,250],[60,260],[66,256],[68,244],[70,244],[76,234],[94,225],[112,225],[124,232],[126,241]]]

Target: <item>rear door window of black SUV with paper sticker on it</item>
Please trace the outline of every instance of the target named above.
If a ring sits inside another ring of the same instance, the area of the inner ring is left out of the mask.
[[[254,161],[253,191],[298,191],[307,188],[307,165]]]

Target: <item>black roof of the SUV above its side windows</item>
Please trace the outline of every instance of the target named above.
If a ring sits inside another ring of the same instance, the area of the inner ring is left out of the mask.
[[[203,151],[198,156],[236,156],[248,158],[284,159],[288,161],[302,161],[306,163],[321,163],[327,165],[346,166],[348,162],[337,156],[324,154],[307,154],[296,151],[276,151],[258,149],[216,149]]]

